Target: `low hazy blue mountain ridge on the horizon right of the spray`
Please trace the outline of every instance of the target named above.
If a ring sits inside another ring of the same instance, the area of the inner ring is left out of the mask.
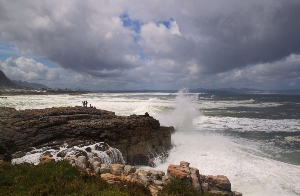
[[[218,89],[205,89],[197,88],[191,89],[190,92],[205,92],[205,93],[300,93],[300,89],[291,90],[259,90],[253,88],[218,88]]]

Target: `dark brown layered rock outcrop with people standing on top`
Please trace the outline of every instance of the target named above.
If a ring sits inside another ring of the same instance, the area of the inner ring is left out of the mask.
[[[145,115],[117,116],[114,112],[88,107],[60,107],[33,110],[0,108],[0,154],[11,161],[32,147],[44,147],[50,141],[68,148],[79,141],[105,142],[119,149],[128,165],[149,165],[150,160],[171,147],[173,127],[160,127],[159,121]],[[77,157],[87,156],[78,151]],[[18,153],[17,153],[18,152]],[[23,154],[24,155],[24,154]],[[50,154],[47,154],[50,156]],[[59,153],[65,157],[66,153]]]

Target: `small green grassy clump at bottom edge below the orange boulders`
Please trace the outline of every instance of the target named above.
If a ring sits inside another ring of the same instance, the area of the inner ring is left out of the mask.
[[[223,196],[223,194],[197,192],[191,185],[185,184],[178,178],[170,179],[167,186],[163,187],[160,196]]]

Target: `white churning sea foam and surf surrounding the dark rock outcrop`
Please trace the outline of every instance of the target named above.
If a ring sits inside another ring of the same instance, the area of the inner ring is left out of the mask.
[[[175,126],[172,135],[176,146],[165,163],[157,162],[156,169],[166,171],[168,164],[190,162],[201,174],[223,174],[232,183],[232,189],[250,195],[300,195],[300,168],[270,158],[259,149],[261,141],[237,140],[217,135],[223,130],[238,131],[299,131],[299,119],[254,119],[199,115],[200,108],[276,107],[281,103],[254,100],[218,100],[217,96],[198,99],[182,91],[179,96],[169,93],[97,93],[69,96],[9,96],[0,106],[17,109],[81,105],[82,100],[116,115],[148,112],[161,125]],[[203,95],[204,96],[204,95]],[[204,135],[204,131],[206,130]],[[26,155],[23,160],[35,160],[41,153]],[[55,152],[54,152],[55,154]],[[56,153],[57,154],[57,153]],[[22,162],[23,160],[19,160]],[[149,168],[143,166],[142,168]]]

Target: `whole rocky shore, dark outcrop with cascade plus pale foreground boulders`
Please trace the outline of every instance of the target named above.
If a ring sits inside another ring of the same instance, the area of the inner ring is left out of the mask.
[[[173,127],[161,127],[148,113],[117,116],[81,106],[18,111],[1,107],[0,159],[13,162],[35,154],[41,155],[41,163],[65,159],[91,175],[100,174],[111,184],[122,180],[144,184],[153,196],[172,178],[182,179],[202,193],[242,196],[231,191],[226,176],[201,175],[185,161],[169,165],[167,174],[131,166],[155,166],[156,159],[167,158],[174,131]]]

